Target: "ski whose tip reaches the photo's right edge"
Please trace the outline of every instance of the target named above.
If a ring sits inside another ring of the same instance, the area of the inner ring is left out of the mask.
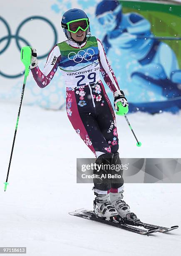
[[[146,229],[158,229],[158,232],[160,232],[160,233],[167,233],[167,232],[170,232],[171,230],[179,228],[178,225],[171,226],[170,228],[166,228],[166,227],[161,227],[161,226],[158,226],[158,225],[152,225],[152,224],[149,224],[149,223],[144,223],[142,221],[125,222],[125,223],[129,224],[129,225],[144,227]]]

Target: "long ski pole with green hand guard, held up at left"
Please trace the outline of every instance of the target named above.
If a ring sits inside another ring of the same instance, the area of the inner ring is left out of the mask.
[[[6,191],[6,189],[7,189],[7,185],[9,184],[9,183],[7,183],[7,180],[8,180],[8,176],[9,176],[9,172],[10,172],[10,165],[11,165],[11,159],[12,159],[12,152],[13,152],[13,148],[14,148],[14,145],[15,145],[15,138],[16,138],[16,132],[17,132],[17,125],[18,125],[19,118],[20,118],[20,110],[21,110],[22,99],[23,99],[23,95],[24,95],[24,91],[25,91],[26,79],[27,79],[27,76],[28,76],[28,74],[29,74],[29,67],[30,67],[30,63],[31,63],[31,54],[32,54],[32,50],[31,50],[31,47],[30,47],[30,46],[22,47],[22,49],[21,49],[21,61],[22,61],[22,63],[25,65],[25,77],[24,77],[24,82],[23,82],[23,86],[22,86],[20,107],[19,107],[19,111],[18,111],[18,115],[17,115],[16,128],[15,128],[15,135],[14,135],[14,139],[13,139],[13,143],[12,143],[10,162],[9,162],[8,171],[7,171],[7,178],[6,178],[6,181],[4,182],[4,184],[5,184],[4,190],[5,190],[5,191]]]

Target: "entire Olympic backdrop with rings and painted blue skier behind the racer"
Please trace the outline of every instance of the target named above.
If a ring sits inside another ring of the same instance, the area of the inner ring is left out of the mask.
[[[89,17],[92,35],[104,44],[130,111],[177,113],[181,109],[181,5],[123,0],[9,2],[0,3],[1,101],[20,101],[21,47],[35,47],[43,69],[52,46],[66,39],[62,14],[80,8]],[[92,54],[81,56],[90,59]],[[65,85],[60,76],[57,70],[50,85],[40,89],[30,73],[23,102],[50,109],[64,107]],[[105,88],[113,100],[106,84]]]

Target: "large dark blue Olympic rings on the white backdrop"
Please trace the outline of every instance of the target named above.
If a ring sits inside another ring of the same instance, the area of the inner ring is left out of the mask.
[[[5,25],[6,29],[7,29],[7,36],[4,36],[0,39],[0,44],[7,40],[5,46],[2,48],[2,50],[0,50],[0,54],[4,53],[4,51],[7,50],[7,48],[10,46],[10,42],[11,42],[11,39],[15,39],[16,41],[16,45],[17,45],[17,48],[19,49],[19,51],[21,51],[21,46],[20,46],[20,41],[23,42],[26,46],[30,46],[31,44],[25,39],[25,38],[22,38],[21,36],[19,36],[19,33],[20,33],[20,29],[22,28],[22,26],[25,25],[25,23],[27,23],[28,21],[31,21],[31,20],[43,20],[45,21],[48,25],[50,25],[50,27],[52,28],[53,30],[53,33],[54,33],[54,43],[53,43],[53,46],[55,44],[57,44],[57,30],[55,28],[55,26],[51,23],[50,20],[48,20],[47,18],[44,18],[44,17],[41,17],[41,16],[31,16],[29,18],[26,18],[25,20],[23,20],[20,25],[17,27],[17,30],[16,30],[16,33],[15,35],[12,35],[11,34],[11,30],[10,30],[10,26],[8,25],[8,23],[6,22],[6,20],[4,18],[2,18],[0,16],[0,21],[2,21],[2,23]],[[52,46],[52,47],[53,47]],[[38,56],[38,59],[43,59],[45,58],[47,55],[49,54],[49,51],[41,56]],[[8,74],[5,74],[3,73],[2,71],[0,71],[0,75],[2,75],[3,77],[7,77],[7,78],[17,78],[17,77],[20,77],[24,74],[24,72],[21,72],[19,74],[16,74],[16,75],[8,75]]]

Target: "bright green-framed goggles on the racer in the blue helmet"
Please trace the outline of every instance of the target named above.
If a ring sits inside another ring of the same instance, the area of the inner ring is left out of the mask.
[[[72,20],[67,22],[66,25],[67,25],[66,28],[68,31],[72,33],[77,33],[79,29],[81,29],[82,31],[86,31],[87,28],[89,28],[89,20],[88,18]]]

